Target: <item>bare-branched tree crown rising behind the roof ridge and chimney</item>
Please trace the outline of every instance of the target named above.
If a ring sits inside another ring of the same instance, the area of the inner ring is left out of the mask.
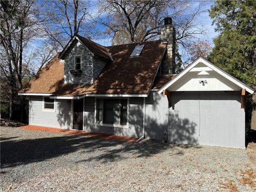
[[[101,1],[99,23],[105,33],[113,34],[114,44],[145,42],[159,38],[165,17],[172,17],[176,29],[176,41],[187,49],[188,41],[203,34],[202,25],[196,20],[202,12],[202,4],[193,10],[189,1]]]

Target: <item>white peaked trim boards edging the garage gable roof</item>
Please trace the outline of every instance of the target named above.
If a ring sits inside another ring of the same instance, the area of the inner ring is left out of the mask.
[[[236,79],[235,77],[231,76],[230,74],[226,73],[225,71],[223,71],[222,69],[220,69],[219,67],[213,65],[213,63],[211,63],[210,61],[207,61],[206,59],[204,59],[203,57],[199,57],[197,58],[194,62],[192,62],[186,69],[184,69],[183,71],[181,71],[180,74],[178,74],[177,76],[175,76],[171,81],[169,81],[168,83],[166,83],[161,89],[158,90],[158,94],[161,94],[163,92],[163,90],[166,90],[168,87],[170,87],[173,83],[177,82],[182,76],[184,76],[185,74],[187,74],[189,71],[191,71],[191,69],[193,69],[198,63],[203,63],[204,65],[206,65],[207,67],[211,68],[212,70],[216,71],[217,73],[219,73],[220,75],[222,75],[223,77],[227,78],[229,81],[233,82],[234,84],[236,84],[237,86],[241,87],[241,89],[246,89],[247,92],[249,93],[254,93],[255,90],[253,90],[251,87],[249,87],[248,85],[244,84],[243,82],[239,81],[238,79]]]

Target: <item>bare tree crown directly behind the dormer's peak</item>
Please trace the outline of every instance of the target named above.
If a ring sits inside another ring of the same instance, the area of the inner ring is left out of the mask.
[[[90,37],[93,28],[89,12],[91,6],[90,1],[79,0],[44,2],[42,17],[51,18],[50,22],[42,26],[45,38],[52,43],[58,43],[58,49],[62,50],[74,34]]]

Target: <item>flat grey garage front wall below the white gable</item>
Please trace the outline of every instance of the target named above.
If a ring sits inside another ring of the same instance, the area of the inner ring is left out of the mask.
[[[240,92],[175,92],[169,108],[169,142],[244,147]]]

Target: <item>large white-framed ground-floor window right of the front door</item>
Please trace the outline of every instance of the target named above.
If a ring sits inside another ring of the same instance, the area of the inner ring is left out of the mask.
[[[127,124],[127,99],[97,99],[97,123]]]

